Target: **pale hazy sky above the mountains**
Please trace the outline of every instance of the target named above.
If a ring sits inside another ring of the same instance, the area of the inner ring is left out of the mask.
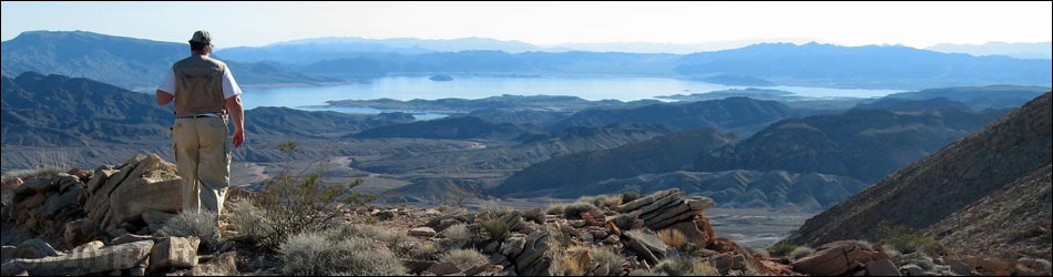
[[[2,2],[2,34],[83,30],[217,48],[317,37],[534,44],[735,40],[842,45],[1051,41],[1053,2]]]

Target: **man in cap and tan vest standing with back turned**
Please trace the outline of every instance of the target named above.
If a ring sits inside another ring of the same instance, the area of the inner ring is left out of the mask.
[[[228,114],[234,117],[234,147],[245,141],[242,89],[226,63],[208,58],[212,35],[207,31],[194,32],[190,44],[191,57],[175,62],[157,88],[157,104],[175,101],[172,141],[183,183],[183,212],[206,209],[218,215],[231,185]]]

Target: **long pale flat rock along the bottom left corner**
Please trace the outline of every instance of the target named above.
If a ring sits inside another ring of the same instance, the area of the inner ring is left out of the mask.
[[[129,269],[145,261],[152,240],[102,248],[94,253],[70,254],[39,259],[16,259],[13,263],[30,275],[86,275]]]

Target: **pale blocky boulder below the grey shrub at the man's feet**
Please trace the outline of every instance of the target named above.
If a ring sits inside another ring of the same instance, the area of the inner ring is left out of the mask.
[[[168,269],[192,268],[197,265],[197,237],[166,237],[157,243],[150,254],[152,273]]]

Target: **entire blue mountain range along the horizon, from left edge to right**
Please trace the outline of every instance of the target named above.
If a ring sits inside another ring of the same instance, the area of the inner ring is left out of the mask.
[[[185,43],[73,31],[23,32],[2,42],[2,73],[25,71],[90,78],[136,91],[156,88]],[[387,41],[319,39],[217,51],[246,85],[325,84],[388,74],[607,75],[698,79],[733,85],[927,89],[1022,84],[1050,86],[1049,60],[948,54],[906,47],[761,43],[693,54],[515,52],[521,42],[489,39]],[[430,44],[429,44],[430,43]],[[432,45],[433,44],[433,45]],[[372,44],[369,44],[372,45]],[[417,48],[420,48],[418,50]],[[435,49],[421,45],[430,45]],[[484,50],[446,51],[452,45]],[[412,51],[393,51],[388,48]],[[439,51],[439,52],[435,52]]]

